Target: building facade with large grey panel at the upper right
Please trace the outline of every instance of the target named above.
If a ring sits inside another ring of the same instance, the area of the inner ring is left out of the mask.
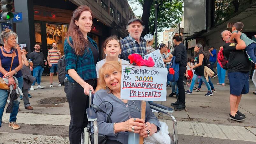
[[[256,0],[184,0],[184,43],[188,56],[194,45],[201,43],[205,50],[224,44],[221,32],[230,30],[235,22],[244,23],[243,33],[253,39],[256,35]]]

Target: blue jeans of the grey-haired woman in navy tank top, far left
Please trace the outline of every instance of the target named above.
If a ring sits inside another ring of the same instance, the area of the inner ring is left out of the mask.
[[[19,83],[19,88],[22,88],[23,86],[23,77],[18,77],[17,78],[18,83]],[[2,90],[0,89],[0,127],[2,126],[2,117],[4,113],[4,108],[6,105],[6,101],[8,98],[9,92],[7,90]],[[19,98],[19,97],[18,97]],[[16,99],[13,101],[13,110],[12,113],[10,114],[10,119],[9,122],[15,122],[16,121],[16,116],[18,114],[18,109],[19,109],[19,101]]]

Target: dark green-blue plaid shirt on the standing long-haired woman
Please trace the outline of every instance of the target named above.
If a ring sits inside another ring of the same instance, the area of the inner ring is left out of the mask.
[[[98,50],[96,42],[88,36],[87,38],[89,42],[91,42],[91,44]],[[71,37],[69,38],[69,40],[72,43]],[[64,53],[66,60],[66,71],[68,71],[69,69],[75,69],[77,74],[84,81],[97,78],[96,69],[94,65],[94,57],[90,48],[85,49],[84,54],[82,56],[79,56],[76,55],[75,50],[69,45],[67,40],[65,40]],[[75,82],[75,80],[73,80],[69,75],[68,80],[71,83]]]

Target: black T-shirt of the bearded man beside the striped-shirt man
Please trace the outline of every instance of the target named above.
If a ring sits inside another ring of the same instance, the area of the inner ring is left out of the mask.
[[[29,58],[33,63],[33,68],[36,66],[44,67],[44,53],[33,51],[29,54]]]

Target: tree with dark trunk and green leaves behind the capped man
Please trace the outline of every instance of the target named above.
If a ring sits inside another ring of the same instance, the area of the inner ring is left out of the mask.
[[[163,31],[164,28],[175,27],[181,21],[183,13],[183,0],[128,0],[133,4],[141,4],[143,7],[142,21],[145,25],[145,30],[142,33],[144,36],[147,33],[154,35],[155,32],[155,8],[157,7],[157,30]],[[153,3],[152,3],[153,2]],[[150,5],[149,5],[150,4]],[[146,11],[146,12],[145,12]],[[145,18],[148,19],[145,20]]]

